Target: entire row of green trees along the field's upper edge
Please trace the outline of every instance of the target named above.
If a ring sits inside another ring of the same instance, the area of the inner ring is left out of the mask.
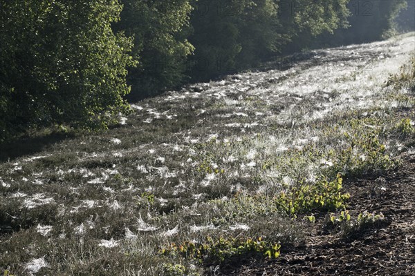
[[[0,0],[0,141],[51,124],[105,128],[127,111],[127,94],[142,99],[303,48],[382,39],[405,6],[405,0]],[[412,28],[410,12],[402,30]]]

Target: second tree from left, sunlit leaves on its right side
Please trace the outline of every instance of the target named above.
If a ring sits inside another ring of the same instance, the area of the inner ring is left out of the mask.
[[[192,9],[189,0],[121,0],[124,9],[114,30],[134,38],[129,99],[137,100],[178,86],[185,79],[186,58],[194,48],[183,28]]]

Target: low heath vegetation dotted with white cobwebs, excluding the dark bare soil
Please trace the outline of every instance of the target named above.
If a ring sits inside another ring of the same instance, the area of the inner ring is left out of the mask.
[[[320,210],[287,214],[282,193],[321,175],[379,175],[414,150],[399,125],[413,128],[414,93],[383,87],[413,49],[410,35],[315,51],[287,71],[141,101],[106,132],[5,147],[0,268],[203,275],[214,266],[159,250],[208,236],[302,242],[302,218]]]

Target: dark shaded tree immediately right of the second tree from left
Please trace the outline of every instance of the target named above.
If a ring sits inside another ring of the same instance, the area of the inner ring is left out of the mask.
[[[196,48],[190,59],[190,75],[194,79],[209,79],[236,68],[236,57],[242,50],[239,21],[249,2],[194,2],[190,36],[190,43]]]

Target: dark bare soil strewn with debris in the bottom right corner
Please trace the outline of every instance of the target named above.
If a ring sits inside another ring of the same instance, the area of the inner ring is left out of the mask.
[[[228,266],[217,275],[415,275],[415,155],[403,159],[396,172],[347,184],[349,212],[373,210],[383,221],[346,236],[318,233],[324,226],[316,225],[305,244],[282,257]]]

